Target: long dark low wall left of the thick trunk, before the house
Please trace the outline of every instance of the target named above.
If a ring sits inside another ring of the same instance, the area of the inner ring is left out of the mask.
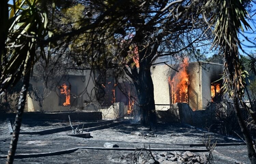
[[[0,119],[5,120],[6,118],[15,118],[16,113],[1,113]],[[101,120],[101,112],[64,112],[64,113],[37,113],[37,112],[26,112],[23,114],[24,119],[57,119],[57,120],[72,120],[90,121],[90,120]]]

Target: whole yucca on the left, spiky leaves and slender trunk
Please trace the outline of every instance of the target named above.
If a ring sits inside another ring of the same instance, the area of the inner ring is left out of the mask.
[[[8,86],[13,86],[23,79],[23,87],[20,91],[13,135],[6,162],[10,164],[13,163],[17,147],[31,70],[33,64],[40,57],[36,55],[35,51],[43,51],[45,46],[40,45],[40,41],[45,37],[49,37],[51,32],[47,28],[47,12],[43,10],[40,0],[17,0],[13,4],[8,4],[8,1],[5,0],[1,3],[5,6],[4,11],[2,12],[1,10],[1,14],[3,14],[1,18],[5,16],[5,19],[3,19],[4,22],[2,24],[4,24],[4,27],[1,27],[0,33],[1,36],[4,34],[6,37],[1,40],[0,49],[0,93]],[[6,11],[8,9],[7,5],[10,11]],[[6,13],[8,15],[9,12],[9,19],[6,19]],[[6,26],[8,30],[6,30]],[[3,38],[1,37],[1,39]],[[46,59],[45,56],[44,58]]]

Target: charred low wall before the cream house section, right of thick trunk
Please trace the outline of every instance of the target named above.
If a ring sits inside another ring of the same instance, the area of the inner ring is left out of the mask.
[[[156,111],[158,121],[179,122],[193,126],[205,126],[214,120],[215,112],[211,110],[193,111],[187,103],[175,103],[168,110]]]

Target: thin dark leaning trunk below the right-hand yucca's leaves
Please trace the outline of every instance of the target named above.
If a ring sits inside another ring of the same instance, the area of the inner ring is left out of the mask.
[[[241,113],[240,106],[239,106],[239,100],[236,97],[234,97],[233,100],[234,100],[234,109],[236,111],[238,123],[240,125],[241,131],[243,133],[243,136],[244,136],[244,139],[246,142],[248,157],[252,164],[256,164],[256,152],[255,152],[255,149],[253,146],[253,140],[252,140],[252,137],[251,137],[246,125],[245,125],[244,119],[242,117],[242,113]]]

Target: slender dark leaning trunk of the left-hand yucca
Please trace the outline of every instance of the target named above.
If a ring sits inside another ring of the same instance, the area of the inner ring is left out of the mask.
[[[29,86],[29,78],[30,78],[30,69],[28,69],[28,71],[26,72],[26,74],[23,78],[23,86],[20,91],[17,114],[15,117],[14,129],[13,129],[13,133],[12,133],[12,140],[11,140],[11,144],[9,147],[6,164],[12,164],[13,160],[14,160],[14,155],[16,152],[18,138],[19,138],[20,126],[22,123],[22,114],[24,112],[24,107],[25,107],[25,103],[26,103],[27,91],[28,91],[28,86]]]

